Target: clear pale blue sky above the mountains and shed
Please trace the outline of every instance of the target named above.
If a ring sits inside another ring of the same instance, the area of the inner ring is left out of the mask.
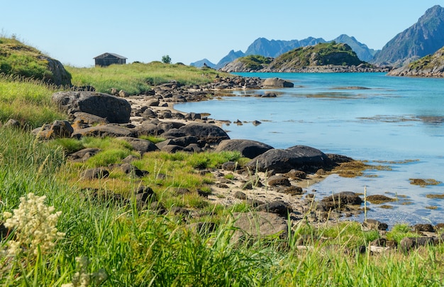
[[[381,49],[443,0],[6,0],[0,33],[63,64],[94,65],[105,52],[149,63],[172,63],[245,52],[257,38],[333,40],[354,36]]]

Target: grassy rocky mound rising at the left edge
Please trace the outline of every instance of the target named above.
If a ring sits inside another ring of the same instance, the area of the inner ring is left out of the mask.
[[[70,85],[71,75],[62,63],[16,38],[0,38],[0,73]]]

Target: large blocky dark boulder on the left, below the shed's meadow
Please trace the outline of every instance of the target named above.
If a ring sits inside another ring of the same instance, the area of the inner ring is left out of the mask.
[[[52,94],[52,102],[67,114],[85,112],[110,123],[128,123],[131,115],[131,104],[126,99],[100,92],[56,92]]]

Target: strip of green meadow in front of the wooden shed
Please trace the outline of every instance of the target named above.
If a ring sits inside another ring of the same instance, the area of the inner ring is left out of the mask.
[[[72,75],[72,85],[90,85],[98,92],[108,93],[114,88],[129,94],[140,94],[151,90],[153,85],[173,80],[182,85],[207,84],[213,81],[216,75],[224,75],[216,70],[160,62],[65,68]]]

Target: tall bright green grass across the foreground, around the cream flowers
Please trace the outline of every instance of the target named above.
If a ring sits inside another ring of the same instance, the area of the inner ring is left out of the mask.
[[[0,257],[2,286],[61,286],[83,276],[91,286],[441,286],[443,245],[407,254],[356,252],[378,237],[360,224],[344,222],[313,229],[304,223],[287,240],[238,243],[231,210],[219,210],[219,224],[207,234],[192,232],[172,214],[138,211],[82,196],[60,180],[66,170],[62,148],[28,133],[0,129],[0,212],[18,208],[28,193],[45,195],[61,211],[57,230],[65,235],[54,247],[33,254]],[[9,140],[4,140],[9,139]],[[407,229],[396,229],[401,238]],[[13,234],[1,242],[4,249]],[[27,234],[28,237],[38,236]],[[301,237],[327,242],[300,250]],[[333,245],[332,245],[333,244]],[[82,275],[83,274],[83,275]]]

